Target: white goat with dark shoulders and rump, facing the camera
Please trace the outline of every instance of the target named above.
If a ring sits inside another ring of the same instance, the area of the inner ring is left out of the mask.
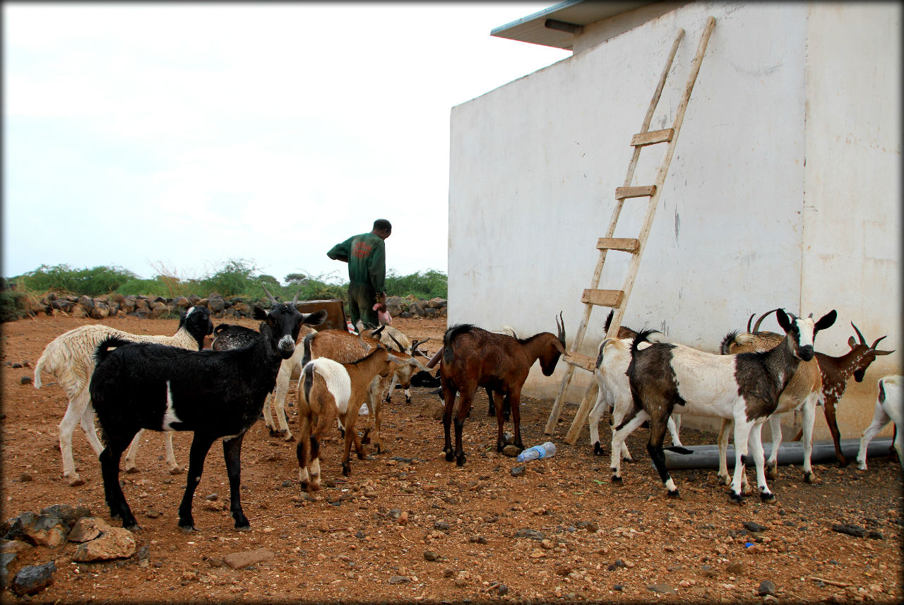
[[[760,498],[774,500],[775,494],[766,483],[760,429],[769,414],[775,412],[778,396],[800,361],[813,358],[816,332],[831,326],[836,317],[832,311],[813,321],[812,314],[798,318],[779,309],[778,325],[786,334],[783,344],[766,352],[739,355],[713,355],[666,343],[640,349],[640,343],[646,340],[646,332],[640,332],[632,343],[631,363],[627,368],[636,415],[626,418],[617,433],[626,436],[649,418],[650,440],[646,449],[669,495],[676,497],[678,489],[665,468],[663,451],[666,420],[673,408],[682,405],[688,414],[733,420],[735,471],[731,498],[740,501],[742,496],[741,479],[749,443],[757,467]]]

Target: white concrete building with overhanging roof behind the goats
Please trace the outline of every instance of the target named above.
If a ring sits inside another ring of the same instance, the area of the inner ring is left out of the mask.
[[[835,309],[816,349],[847,352],[852,321],[870,343],[888,335],[880,348],[895,349],[848,385],[838,420],[843,438],[857,437],[876,380],[901,373],[896,3],[567,0],[495,29],[573,53],[452,109],[449,324],[530,335],[554,332],[561,311],[571,345],[631,137],[683,28],[650,129],[672,126],[710,15],[716,26],[623,323],[717,352],[751,313]],[[648,149],[632,184],[653,182],[663,152]],[[630,203],[616,237],[637,235],[644,202]],[[609,253],[600,288],[623,284],[627,259],[617,256],[627,255]],[[607,312],[594,309],[580,352],[596,355]],[[762,329],[780,331],[774,318]],[[564,373],[561,363],[549,378],[533,368],[525,395],[555,397]],[[579,402],[590,379],[576,369],[566,401]],[[829,435],[822,416],[817,439]]]

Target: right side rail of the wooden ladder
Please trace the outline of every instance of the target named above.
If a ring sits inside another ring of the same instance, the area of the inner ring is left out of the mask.
[[[639,248],[636,254],[631,258],[631,262],[628,265],[625,285],[622,287],[622,292],[624,292],[624,295],[622,297],[621,303],[617,306],[616,311],[613,313],[612,321],[609,323],[607,338],[615,337],[618,327],[621,325],[621,321],[625,317],[627,301],[631,296],[631,291],[634,289],[637,272],[640,268],[640,261],[644,254],[644,248],[646,247],[646,239],[649,236],[650,229],[653,228],[653,219],[655,218],[656,209],[659,206],[659,196],[662,192],[662,186],[665,181],[665,177],[669,172],[669,166],[672,163],[675,144],[677,144],[678,141],[678,133],[681,131],[681,126],[684,120],[684,112],[691,100],[693,86],[697,81],[697,75],[700,73],[703,54],[706,52],[706,48],[709,45],[710,35],[712,33],[712,29],[715,27],[715,24],[716,20],[713,17],[709,17],[706,20],[706,24],[703,26],[703,33],[700,38],[700,43],[697,45],[697,52],[694,55],[693,60],[691,61],[691,71],[684,83],[682,98],[678,103],[678,107],[675,109],[675,121],[673,125],[674,135],[672,136],[672,139],[666,144],[663,162],[659,165],[659,171],[656,174],[654,192],[647,202],[647,210],[644,223],[641,227],[640,235],[637,236],[637,239],[640,242]],[[584,424],[587,423],[587,418],[590,412],[590,391],[594,391],[596,394],[598,393],[598,389],[599,387],[594,380],[592,386],[588,387],[588,393],[586,393],[581,400],[578,412],[575,414],[574,420],[571,422],[569,432],[565,435],[564,441],[566,443],[574,445],[576,442],[578,442],[578,434],[580,433],[581,429],[584,428]]]

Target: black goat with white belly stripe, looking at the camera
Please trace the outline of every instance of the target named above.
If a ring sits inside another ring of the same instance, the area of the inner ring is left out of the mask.
[[[259,336],[243,349],[187,351],[116,338],[99,345],[91,402],[107,445],[100,453],[104,494],[110,515],[122,519],[124,527],[137,527],[137,521],[119,485],[119,458],[141,429],[194,432],[179,507],[179,526],[184,531],[194,529],[194,490],[204,458],[220,438],[232,518],[239,529],[250,526],[241,509],[241,442],[276,384],[279,364],[294,352],[302,323],[323,321],[325,315],[323,311],[298,312],[297,294],[288,303],[267,294],[273,306],[269,312],[254,310],[255,318],[263,320]]]

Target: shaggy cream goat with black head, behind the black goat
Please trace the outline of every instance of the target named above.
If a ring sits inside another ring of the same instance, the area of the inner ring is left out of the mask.
[[[60,452],[63,477],[69,479],[71,486],[82,485],[85,482],[76,472],[75,462],[72,460],[72,433],[76,425],[81,423],[81,430],[85,432],[95,453],[100,455],[104,449],[94,426],[94,409],[91,407],[88,391],[95,366],[94,354],[100,342],[116,337],[132,342],[158,342],[181,349],[199,350],[204,346],[204,337],[212,331],[211,312],[206,307],[192,307],[180,319],[179,329],[173,336],[132,334],[102,323],[92,323],[73,328],[47,345],[34,366],[34,388],[42,386],[41,372],[49,372],[57,377],[60,386],[69,397],[66,414],[60,423]],[[138,431],[126,454],[127,472],[137,471],[135,456],[140,442],[141,431]],[[176,464],[173,453],[172,433],[164,433],[164,443],[170,472],[181,472],[182,468]]]

